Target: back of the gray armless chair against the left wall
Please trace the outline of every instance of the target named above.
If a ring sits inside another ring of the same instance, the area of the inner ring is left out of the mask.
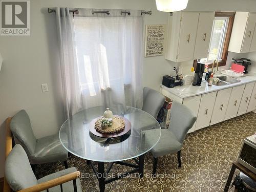
[[[29,116],[25,110],[21,110],[13,116],[10,128],[15,143],[22,145],[27,155],[33,155],[35,152],[36,138],[32,130]]]

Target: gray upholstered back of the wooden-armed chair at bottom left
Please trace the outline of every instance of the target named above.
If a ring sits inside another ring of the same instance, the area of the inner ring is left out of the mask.
[[[5,179],[14,191],[38,184],[22,145],[16,144],[5,161]]]

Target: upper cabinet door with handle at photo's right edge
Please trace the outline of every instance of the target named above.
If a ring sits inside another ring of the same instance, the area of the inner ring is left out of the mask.
[[[250,52],[251,41],[252,41],[252,36],[254,33],[255,23],[256,23],[256,14],[249,13],[249,17],[247,20],[247,25],[246,25],[246,29],[245,29],[245,33],[244,33],[244,39],[243,39],[241,53]]]

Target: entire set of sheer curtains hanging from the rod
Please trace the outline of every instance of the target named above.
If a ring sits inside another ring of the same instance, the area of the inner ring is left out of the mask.
[[[67,110],[73,109],[69,114],[99,105],[141,108],[144,22],[141,11],[132,10],[127,15],[121,14],[123,10],[109,10],[107,15],[78,9],[79,14],[73,17],[67,9],[65,14],[61,11],[65,9],[56,10],[60,10],[56,15],[61,29],[58,34],[63,90],[68,98]],[[63,67],[66,65],[69,73]]]

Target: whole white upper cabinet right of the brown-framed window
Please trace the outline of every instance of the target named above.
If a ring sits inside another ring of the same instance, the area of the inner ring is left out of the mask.
[[[256,51],[256,13],[236,12],[228,51],[247,53]]]

